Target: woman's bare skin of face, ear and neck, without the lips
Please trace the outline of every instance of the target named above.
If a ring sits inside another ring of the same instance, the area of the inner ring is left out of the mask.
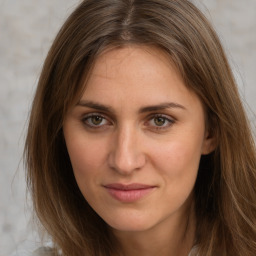
[[[160,50],[127,46],[97,59],[63,131],[77,184],[122,255],[188,255],[199,161],[214,147],[205,119],[200,99]],[[153,189],[122,202],[104,187],[112,183]]]

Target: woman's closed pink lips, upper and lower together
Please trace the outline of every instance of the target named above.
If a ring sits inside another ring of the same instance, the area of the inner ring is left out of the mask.
[[[138,201],[147,196],[156,188],[156,186],[154,185],[146,185],[139,183],[132,183],[127,185],[113,183],[104,185],[103,187],[107,189],[108,193],[114,199],[126,203]]]

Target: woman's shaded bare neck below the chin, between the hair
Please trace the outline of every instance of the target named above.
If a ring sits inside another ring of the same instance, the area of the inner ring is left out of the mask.
[[[122,256],[188,256],[195,240],[194,205],[143,231],[114,230]]]

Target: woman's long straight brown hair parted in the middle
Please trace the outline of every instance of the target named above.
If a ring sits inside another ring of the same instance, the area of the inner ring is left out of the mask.
[[[199,254],[255,256],[254,141],[219,39],[187,0],[85,0],[58,33],[38,82],[24,152],[34,209],[55,247],[68,256],[116,253],[108,226],[78,189],[62,124],[97,56],[127,44],[162,49],[206,108],[217,146],[202,157],[195,185]]]

